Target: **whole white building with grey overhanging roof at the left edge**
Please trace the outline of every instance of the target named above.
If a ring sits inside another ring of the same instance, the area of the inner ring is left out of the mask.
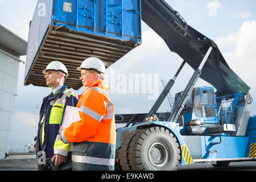
[[[0,24],[0,159],[9,152],[9,131],[14,113],[20,56],[27,42]]]

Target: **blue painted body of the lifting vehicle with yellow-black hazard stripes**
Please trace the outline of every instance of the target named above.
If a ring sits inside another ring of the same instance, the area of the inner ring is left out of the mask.
[[[243,108],[243,106],[245,105],[244,102],[242,102],[244,95],[241,92],[238,92],[228,96],[216,98],[214,96],[213,88],[201,87],[195,88],[194,90],[200,91],[200,101],[202,106],[201,109],[203,111],[203,115],[201,117],[198,117],[198,115],[196,115],[195,111],[193,110],[192,113],[183,112],[185,124],[184,126],[179,126],[179,121],[175,123],[156,120],[144,123],[137,123],[137,125],[131,127],[119,128],[117,129],[116,149],[118,150],[118,148],[121,146],[123,138],[121,137],[122,134],[127,135],[127,133],[130,133],[131,131],[134,130],[147,129],[150,127],[159,126],[168,129],[176,137],[180,147],[181,165],[192,164],[193,162],[232,162],[242,160],[255,160],[256,116],[249,118],[246,133],[244,136],[237,136],[237,134],[232,130],[222,131],[219,134],[217,133],[217,135],[210,135],[208,131],[209,127],[218,126],[220,121],[221,124],[224,125],[233,125],[232,123],[236,122],[237,114],[233,113],[232,115],[231,110],[236,110],[237,113],[239,109]],[[210,94],[208,94],[208,101],[206,100],[207,97],[204,96],[204,93],[207,92],[204,91],[210,91],[213,93],[212,102],[209,103]],[[218,111],[220,109],[221,101],[223,100],[223,98],[225,98],[225,100],[227,100],[228,98],[231,99],[230,105],[229,107],[226,107],[225,110]],[[189,104],[189,101],[187,101],[186,104]],[[215,111],[215,113],[213,113],[216,115],[212,116],[212,114],[209,117],[207,117],[207,113],[205,113],[207,109],[205,109],[205,107],[211,107],[212,111]],[[222,119],[219,119],[219,117],[222,117]],[[191,121],[192,119],[200,119],[200,126],[204,128],[204,132],[202,132],[200,135],[188,135],[187,130],[189,127],[189,121]]]

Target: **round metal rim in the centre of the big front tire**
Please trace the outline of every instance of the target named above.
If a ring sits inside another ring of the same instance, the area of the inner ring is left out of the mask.
[[[159,141],[152,143],[148,148],[148,159],[154,167],[166,166],[169,159],[169,150],[166,144]]]

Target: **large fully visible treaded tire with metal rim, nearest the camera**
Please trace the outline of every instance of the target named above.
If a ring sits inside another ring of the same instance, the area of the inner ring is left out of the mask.
[[[129,163],[135,171],[175,171],[180,158],[177,139],[163,127],[142,130],[130,142]]]

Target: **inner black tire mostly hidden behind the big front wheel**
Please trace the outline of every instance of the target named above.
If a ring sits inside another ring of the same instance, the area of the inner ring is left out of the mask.
[[[124,139],[123,142],[121,143],[120,148],[118,149],[118,159],[119,159],[119,164],[122,168],[123,171],[130,171],[131,166],[129,163],[128,155],[129,155],[129,148],[130,148],[130,143],[133,137],[137,133],[139,133],[141,130],[135,130],[129,133]]]

